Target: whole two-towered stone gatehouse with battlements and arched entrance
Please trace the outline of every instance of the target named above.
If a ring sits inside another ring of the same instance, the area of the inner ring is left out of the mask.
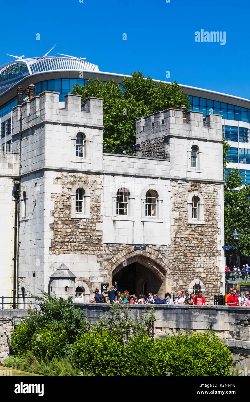
[[[222,117],[168,109],[137,119],[136,156],[103,153],[102,124],[98,98],[65,95],[62,105],[43,92],[13,109],[18,293],[84,303],[114,281],[160,297],[223,292]]]

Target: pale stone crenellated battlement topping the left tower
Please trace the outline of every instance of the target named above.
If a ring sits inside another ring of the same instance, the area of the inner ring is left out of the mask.
[[[13,109],[13,135],[42,122],[102,127],[102,99],[89,97],[81,105],[81,96],[65,95],[64,107],[60,107],[59,93],[42,92],[30,101]],[[22,119],[21,119],[22,116]]]

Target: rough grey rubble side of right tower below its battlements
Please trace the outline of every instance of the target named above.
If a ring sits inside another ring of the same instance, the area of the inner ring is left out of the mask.
[[[165,151],[164,137],[157,137],[142,141],[140,144],[140,150],[136,151],[136,156],[159,159],[168,158],[168,152]]]

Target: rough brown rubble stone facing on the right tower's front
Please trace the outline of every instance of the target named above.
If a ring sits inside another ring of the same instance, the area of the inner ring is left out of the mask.
[[[188,224],[187,197],[198,191],[204,198],[204,225]],[[222,273],[219,272],[221,251],[217,250],[220,185],[171,182],[171,243],[169,266],[172,273],[168,284],[173,290],[185,287],[194,278],[203,282],[206,295],[212,301],[214,293],[220,293]],[[212,258],[211,258],[212,257]],[[222,267],[221,267],[222,268]]]

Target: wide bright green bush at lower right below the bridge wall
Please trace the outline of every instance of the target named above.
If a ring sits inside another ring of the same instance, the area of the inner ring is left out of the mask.
[[[165,339],[136,336],[124,352],[122,375],[228,376],[230,350],[214,332],[187,332]]]

